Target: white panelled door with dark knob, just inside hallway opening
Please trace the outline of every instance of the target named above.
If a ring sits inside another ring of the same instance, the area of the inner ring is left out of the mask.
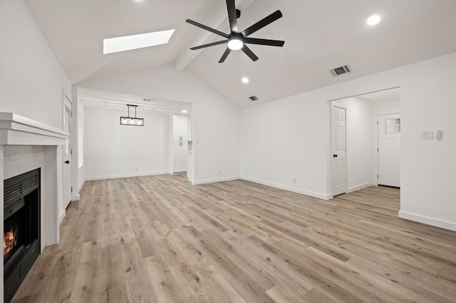
[[[333,196],[346,193],[346,109],[331,107],[331,159]]]

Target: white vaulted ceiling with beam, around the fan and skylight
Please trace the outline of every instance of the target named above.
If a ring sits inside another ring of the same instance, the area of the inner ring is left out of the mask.
[[[171,63],[238,107],[456,51],[455,0],[237,0],[239,31],[280,9],[283,18],[252,38],[285,44],[250,45],[259,60],[233,51],[224,63],[218,61],[226,45],[190,50],[221,37],[185,23],[190,18],[228,33],[224,0],[25,1],[73,84]],[[377,26],[366,25],[372,14],[382,16]],[[167,45],[103,55],[103,38],[172,28]],[[347,63],[353,73],[338,78],[329,73]],[[250,102],[251,95],[260,100]]]

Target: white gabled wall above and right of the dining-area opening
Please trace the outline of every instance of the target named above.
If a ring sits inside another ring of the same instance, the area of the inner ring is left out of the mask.
[[[78,86],[191,102],[194,183],[239,177],[239,109],[192,73],[177,73],[170,66],[162,66],[79,83]],[[89,142],[85,141],[85,144],[88,148]],[[86,156],[84,159],[86,161]],[[88,165],[85,162],[86,176]]]

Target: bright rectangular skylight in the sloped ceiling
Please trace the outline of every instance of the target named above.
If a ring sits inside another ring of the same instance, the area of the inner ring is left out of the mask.
[[[155,31],[153,33],[103,39],[103,54],[166,44],[170,41],[174,31],[174,29],[170,29],[168,31]]]

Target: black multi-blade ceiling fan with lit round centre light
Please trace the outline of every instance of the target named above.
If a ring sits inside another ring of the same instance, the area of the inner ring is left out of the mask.
[[[250,50],[250,48],[248,48],[246,46],[247,43],[259,44],[261,46],[284,46],[285,41],[248,37],[250,34],[258,31],[261,28],[264,28],[264,26],[267,26],[269,23],[272,23],[272,22],[276,21],[277,19],[281,18],[281,16],[282,16],[281,11],[279,11],[279,10],[274,11],[274,13],[270,14],[269,16],[266,16],[265,18],[262,18],[260,21],[258,21],[254,25],[250,26],[249,28],[244,29],[244,31],[239,32],[237,30],[237,18],[239,18],[239,16],[241,16],[241,11],[239,11],[239,9],[236,9],[236,7],[234,5],[234,0],[227,0],[227,9],[228,9],[229,28],[231,28],[231,33],[229,33],[229,34],[223,33],[222,31],[217,31],[214,28],[210,28],[208,26],[205,26],[201,23],[197,23],[190,19],[186,20],[187,23],[190,23],[194,26],[198,26],[199,28],[203,28],[206,31],[210,31],[212,33],[217,33],[217,35],[227,38],[227,40],[207,43],[202,46],[195,46],[195,47],[190,48],[191,50],[197,50],[200,48],[207,48],[209,46],[217,46],[219,44],[228,43],[227,50],[225,50],[225,52],[222,55],[222,58],[220,58],[220,60],[219,60],[219,63],[222,63],[227,58],[229,53],[231,53],[232,50],[242,50],[252,60],[254,60],[254,61],[258,60],[257,55],[255,55],[252,52],[252,50]]]

